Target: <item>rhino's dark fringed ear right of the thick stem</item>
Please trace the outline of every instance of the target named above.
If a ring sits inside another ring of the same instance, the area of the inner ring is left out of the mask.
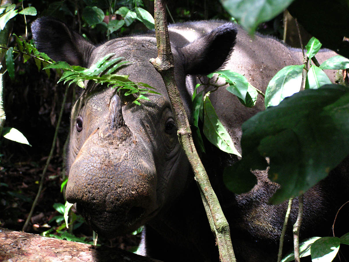
[[[208,74],[220,68],[235,44],[237,29],[223,24],[180,49],[186,74]]]

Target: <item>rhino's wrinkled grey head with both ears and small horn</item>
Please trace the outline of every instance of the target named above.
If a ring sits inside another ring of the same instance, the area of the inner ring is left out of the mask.
[[[157,56],[154,33],[95,46],[57,20],[39,18],[31,30],[39,51],[56,61],[91,66],[114,53],[113,57],[132,62],[119,74],[161,93],[147,94],[150,101],[136,105],[116,89],[88,82],[89,91],[82,93],[71,113],[68,202],[76,203],[92,228],[108,238],[135,230],[175,201],[193,180],[163,80],[149,63]],[[172,43],[175,80],[189,117],[186,75],[220,67],[232,51],[236,33],[227,23],[194,42],[182,41],[178,48]]]

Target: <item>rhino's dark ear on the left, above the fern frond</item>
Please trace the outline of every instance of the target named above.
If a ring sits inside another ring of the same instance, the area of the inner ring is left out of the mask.
[[[31,32],[37,49],[46,53],[54,61],[88,66],[88,59],[95,46],[64,23],[41,17],[31,24]]]

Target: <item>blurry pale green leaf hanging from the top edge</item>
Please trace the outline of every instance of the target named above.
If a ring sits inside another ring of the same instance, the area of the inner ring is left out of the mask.
[[[220,1],[225,10],[227,10],[249,34],[253,34],[258,24],[273,19],[293,2],[293,0]]]

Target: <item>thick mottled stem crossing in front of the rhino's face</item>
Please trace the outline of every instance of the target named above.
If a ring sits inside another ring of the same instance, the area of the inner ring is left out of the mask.
[[[155,0],[154,2],[155,35],[158,56],[157,58],[151,58],[150,63],[154,65],[155,69],[161,74],[164,80],[173,111],[176,115],[179,140],[194,171],[195,181],[200,189],[200,195],[211,226],[211,231],[216,238],[220,260],[224,262],[236,262],[228,221],[224,217],[217,196],[211,187],[208,175],[195,149],[187,114],[174,81],[173,56],[168,37],[165,5],[164,0]]]

